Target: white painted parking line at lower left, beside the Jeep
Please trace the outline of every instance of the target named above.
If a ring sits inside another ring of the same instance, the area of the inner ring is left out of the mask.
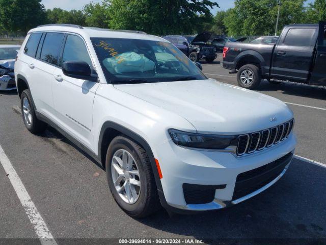
[[[36,235],[39,237],[42,245],[57,245],[57,242],[53,238],[51,232],[47,228],[41,214],[37,211],[35,204],[33,203],[29,193],[27,192],[25,186],[21,182],[19,176],[17,175],[14,167],[12,166],[10,160],[5,154],[4,150],[0,145],[0,162],[4,167],[9,180],[17,193],[18,199],[23,206],[30,222],[34,226]]]

